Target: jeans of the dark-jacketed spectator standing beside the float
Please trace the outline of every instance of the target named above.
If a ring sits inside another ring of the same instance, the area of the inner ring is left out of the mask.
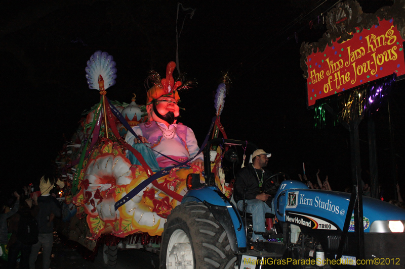
[[[33,244],[31,254],[29,255],[29,269],[35,269],[35,261],[38,256],[38,251],[42,246],[42,268],[49,269],[51,264],[52,246],[54,244],[53,234],[39,234],[38,243]]]

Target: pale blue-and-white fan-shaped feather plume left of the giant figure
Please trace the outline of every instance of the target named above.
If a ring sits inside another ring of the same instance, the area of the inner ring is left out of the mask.
[[[104,89],[115,84],[117,69],[111,55],[101,50],[96,51],[87,61],[86,78],[90,89],[100,90],[98,77],[101,75],[104,79]]]

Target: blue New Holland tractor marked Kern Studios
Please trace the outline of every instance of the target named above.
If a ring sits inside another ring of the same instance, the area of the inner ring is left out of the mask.
[[[190,190],[165,224],[160,268],[403,268],[405,210],[363,197],[365,256],[359,258],[353,212],[347,212],[350,194],[313,190],[288,179],[273,197],[274,233],[253,244],[249,216],[215,186],[209,157],[214,144],[244,147],[246,141],[214,139],[207,144],[206,183],[189,176]],[[342,239],[347,214],[351,220]]]

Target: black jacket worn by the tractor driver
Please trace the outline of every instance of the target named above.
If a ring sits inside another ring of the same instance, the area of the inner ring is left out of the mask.
[[[259,177],[262,177],[261,173],[259,174]],[[271,184],[271,182],[269,182],[268,180],[269,177],[271,177],[271,173],[268,170],[264,169],[263,187],[265,185],[267,186]],[[256,195],[262,192],[262,189],[259,187],[259,180],[252,164],[249,164],[248,166],[242,168],[236,175],[233,193],[233,199],[235,200],[235,202],[244,199],[245,189],[245,198],[247,200],[256,199]]]

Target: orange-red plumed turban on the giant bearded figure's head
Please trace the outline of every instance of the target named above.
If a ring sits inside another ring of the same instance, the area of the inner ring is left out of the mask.
[[[166,67],[166,78],[160,80],[159,75],[152,74],[154,86],[148,90],[146,104],[152,103],[153,100],[161,96],[172,97],[178,102],[180,100],[177,88],[181,86],[181,81],[174,82],[173,70],[176,68],[175,62],[170,62]]]

